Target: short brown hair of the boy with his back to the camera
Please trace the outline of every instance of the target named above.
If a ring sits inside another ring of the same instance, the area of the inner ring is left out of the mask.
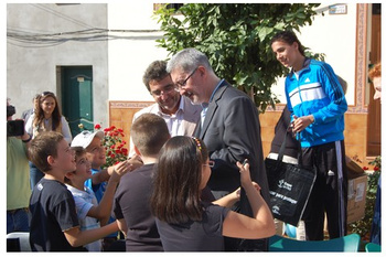
[[[170,138],[167,122],[154,114],[143,114],[131,126],[131,139],[142,156],[156,156]]]

